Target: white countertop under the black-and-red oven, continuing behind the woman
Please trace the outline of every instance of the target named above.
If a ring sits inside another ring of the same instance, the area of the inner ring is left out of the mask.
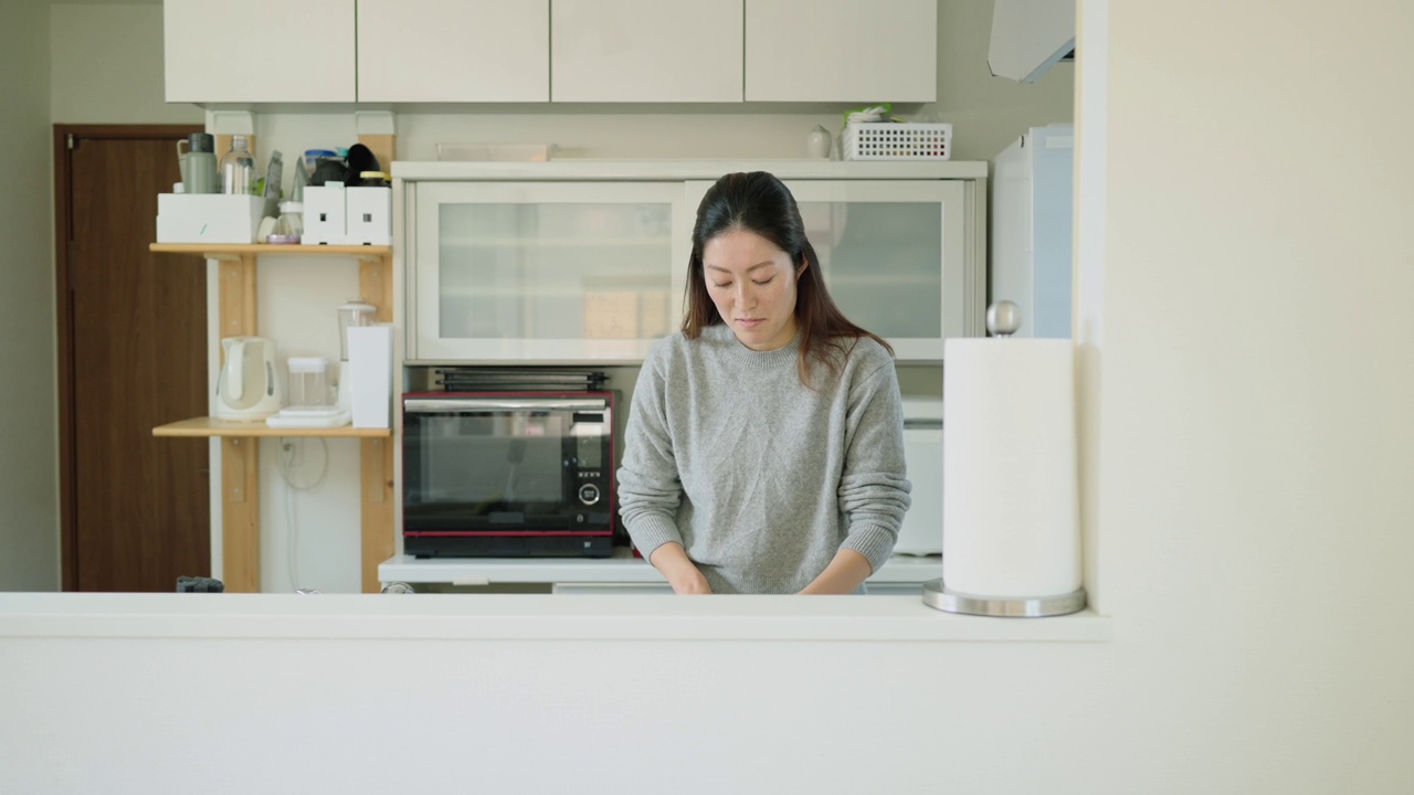
[[[870,583],[926,583],[943,576],[940,556],[895,555]],[[614,557],[428,557],[395,555],[378,567],[383,583],[665,583],[646,560],[618,549]]]

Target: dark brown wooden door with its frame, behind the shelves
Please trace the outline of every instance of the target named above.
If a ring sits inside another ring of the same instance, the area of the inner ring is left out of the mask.
[[[154,255],[175,141],[199,127],[55,126],[64,587],[171,591],[211,573],[206,267]]]

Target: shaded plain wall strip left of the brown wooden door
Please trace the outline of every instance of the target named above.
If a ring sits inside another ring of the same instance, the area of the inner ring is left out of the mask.
[[[59,587],[48,8],[0,24],[0,590]]]

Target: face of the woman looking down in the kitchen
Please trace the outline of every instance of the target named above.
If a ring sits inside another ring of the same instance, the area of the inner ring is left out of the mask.
[[[752,351],[775,351],[795,338],[796,269],[775,243],[741,229],[703,245],[703,277],[717,314]]]

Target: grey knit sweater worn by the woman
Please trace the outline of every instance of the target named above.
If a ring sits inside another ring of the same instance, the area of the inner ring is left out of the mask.
[[[649,557],[679,542],[713,593],[796,593],[841,549],[877,571],[909,505],[898,375],[875,341],[800,383],[799,337],[758,352],[725,325],[673,334],[633,388],[619,515]]]

